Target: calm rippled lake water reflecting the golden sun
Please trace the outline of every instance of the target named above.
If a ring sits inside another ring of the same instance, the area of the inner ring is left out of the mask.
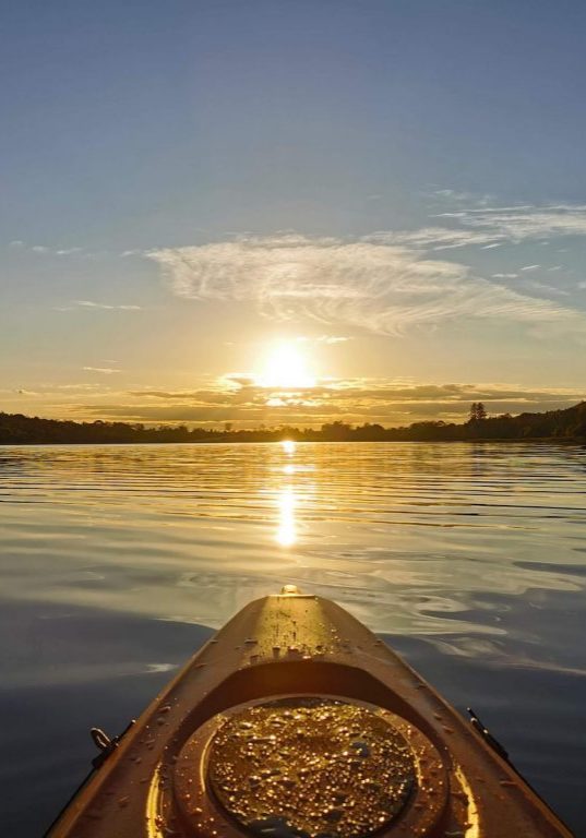
[[[0,446],[0,811],[39,836],[177,666],[285,583],[335,599],[586,835],[586,448]],[[34,801],[34,805],[32,805]]]

